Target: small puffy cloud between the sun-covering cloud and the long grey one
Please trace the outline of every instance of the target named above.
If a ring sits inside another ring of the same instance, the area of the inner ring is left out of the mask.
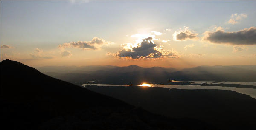
[[[185,41],[185,40],[198,40],[198,34],[195,34],[195,31],[189,30],[189,27],[185,27],[184,30],[175,31],[172,34],[173,40],[175,41]]]

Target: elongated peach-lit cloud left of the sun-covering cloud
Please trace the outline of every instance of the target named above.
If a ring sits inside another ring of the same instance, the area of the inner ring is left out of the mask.
[[[104,39],[94,37],[91,41],[78,41],[78,42],[70,42],[64,43],[62,45],[58,45],[59,48],[82,48],[84,50],[97,50],[100,49],[102,45],[111,45],[113,42],[105,41]]]

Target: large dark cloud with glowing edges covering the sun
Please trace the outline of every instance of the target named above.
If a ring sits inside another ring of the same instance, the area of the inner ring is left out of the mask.
[[[131,59],[149,59],[163,57],[177,57],[172,51],[164,51],[152,42],[152,37],[143,39],[137,46],[125,44],[123,49],[116,54],[116,57]]]

